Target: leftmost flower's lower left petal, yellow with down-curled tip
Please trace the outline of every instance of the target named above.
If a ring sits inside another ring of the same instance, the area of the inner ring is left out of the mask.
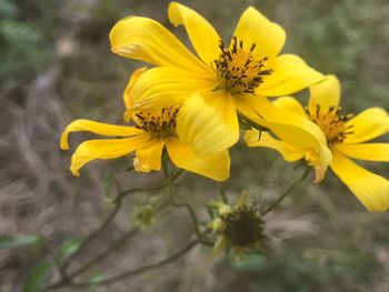
[[[137,135],[126,139],[90,140],[80,144],[71,157],[71,172],[79,177],[79,170],[94,159],[114,159],[126,155],[141,147],[148,137]]]

